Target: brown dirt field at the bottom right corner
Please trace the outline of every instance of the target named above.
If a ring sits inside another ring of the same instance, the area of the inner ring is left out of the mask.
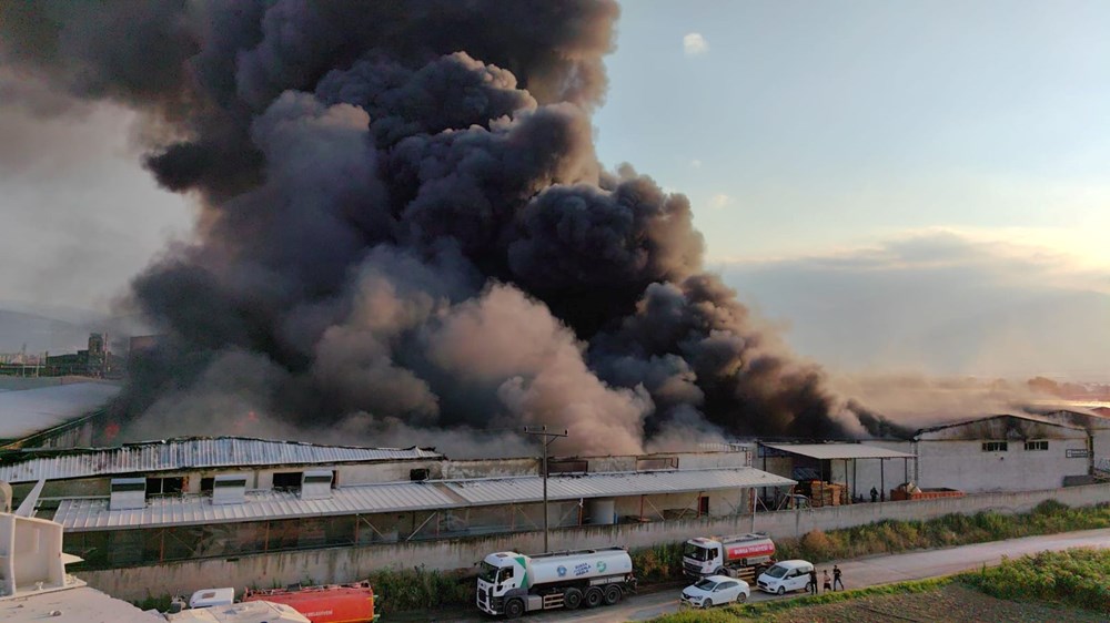
[[[928,593],[876,595],[844,603],[791,609],[768,619],[776,623],[887,623],[897,621],[1006,621],[1099,623],[1107,614],[1003,601],[950,584]]]

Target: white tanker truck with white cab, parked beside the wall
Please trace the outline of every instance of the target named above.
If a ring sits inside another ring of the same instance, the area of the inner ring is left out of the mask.
[[[535,610],[612,605],[635,589],[624,548],[533,556],[497,552],[482,561],[477,604],[487,614],[516,619]]]

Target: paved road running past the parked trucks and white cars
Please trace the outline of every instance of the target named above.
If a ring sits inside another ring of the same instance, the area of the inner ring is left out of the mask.
[[[848,589],[861,589],[875,584],[888,584],[906,580],[924,580],[938,575],[950,575],[960,571],[978,569],[983,564],[998,564],[1002,556],[1016,558],[1045,550],[1067,550],[1081,547],[1110,548],[1110,530],[1084,530],[1043,537],[1026,537],[1009,541],[995,541],[975,545],[962,545],[946,550],[928,550],[906,554],[878,555],[840,562],[844,581]],[[818,565],[818,572],[833,563]],[[577,612],[551,611],[526,615],[522,621],[577,621],[608,623],[612,621],[645,621],[660,614],[678,610],[678,589],[644,593],[625,600],[615,606]],[[754,591],[753,602],[776,599],[794,599],[801,595],[779,598]],[[452,623],[488,622],[475,610],[457,616],[444,616],[434,621]]]

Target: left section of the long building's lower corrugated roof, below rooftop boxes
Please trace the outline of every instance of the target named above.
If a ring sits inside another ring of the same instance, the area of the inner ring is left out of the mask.
[[[462,505],[430,482],[397,482],[340,487],[324,500],[302,500],[286,491],[252,491],[240,504],[213,504],[201,496],[152,498],[147,508],[109,510],[105,498],[62,500],[54,521],[67,532],[111,528],[196,525],[236,521],[263,521],[297,517],[326,517],[445,509]]]

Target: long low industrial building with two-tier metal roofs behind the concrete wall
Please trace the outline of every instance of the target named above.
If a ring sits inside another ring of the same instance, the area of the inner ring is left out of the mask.
[[[744,514],[795,482],[744,452],[552,460],[553,528]],[[524,532],[544,523],[536,459],[451,461],[428,449],[186,438],[0,456],[0,479],[47,490],[79,569]]]

